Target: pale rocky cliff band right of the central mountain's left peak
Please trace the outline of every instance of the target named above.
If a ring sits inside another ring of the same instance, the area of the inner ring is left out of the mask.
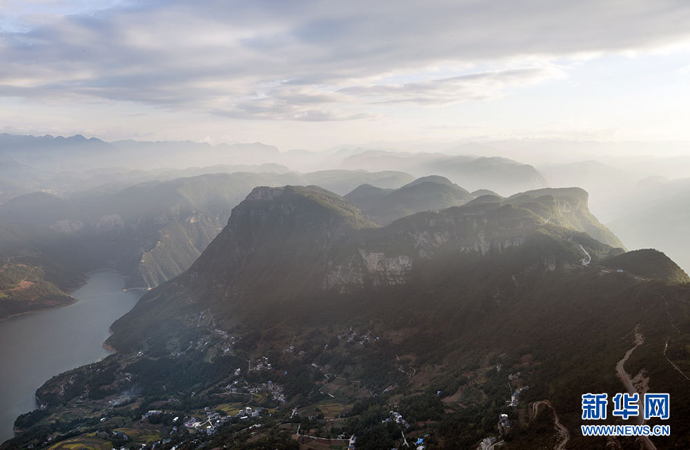
[[[544,223],[528,209],[511,205],[484,203],[414,214],[388,227],[351,236],[346,248],[355,251],[343,249],[328,258],[322,285],[338,292],[400,285],[411,279],[417,265],[437,258],[500,256],[541,232],[563,234],[560,227]],[[557,262],[550,250],[542,256],[549,261],[544,268],[555,269]],[[560,258],[575,260],[578,256]]]

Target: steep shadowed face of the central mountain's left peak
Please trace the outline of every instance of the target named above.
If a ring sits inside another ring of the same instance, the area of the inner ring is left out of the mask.
[[[319,187],[257,187],[183,279],[224,298],[277,285],[320,286],[328,255],[344,236],[375,226]]]

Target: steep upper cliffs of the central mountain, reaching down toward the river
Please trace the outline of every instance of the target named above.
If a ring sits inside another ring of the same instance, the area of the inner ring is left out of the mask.
[[[483,196],[377,227],[319,187],[257,187],[190,269],[146,294],[108,342],[123,349],[152,330],[175,335],[201,310],[228,326],[264,327],[371,316],[382,299],[411,301],[408,292],[439,286],[504,301],[622,252],[578,231],[585,212],[584,191],[560,190]]]

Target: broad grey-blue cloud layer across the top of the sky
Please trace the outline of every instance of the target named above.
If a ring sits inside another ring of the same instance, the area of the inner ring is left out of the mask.
[[[0,96],[293,121],[491,99],[562,76],[555,61],[687,39],[690,22],[674,0],[55,4],[6,6]]]

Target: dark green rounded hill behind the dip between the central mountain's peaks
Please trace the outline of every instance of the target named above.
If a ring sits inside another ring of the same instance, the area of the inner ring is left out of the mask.
[[[424,176],[396,190],[361,185],[344,198],[374,222],[388,225],[415,212],[464,205],[473,197],[448,178]]]

